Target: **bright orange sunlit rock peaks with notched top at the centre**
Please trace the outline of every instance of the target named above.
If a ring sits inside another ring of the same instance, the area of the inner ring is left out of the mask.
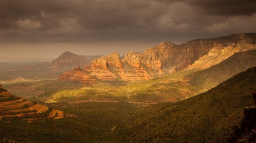
[[[112,53],[92,61],[90,74],[100,80],[142,81],[151,79],[146,69],[141,65],[139,54],[129,52],[121,60],[118,53]]]

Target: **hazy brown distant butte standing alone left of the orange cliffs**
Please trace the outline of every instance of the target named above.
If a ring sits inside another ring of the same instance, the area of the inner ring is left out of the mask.
[[[77,55],[66,51],[61,54],[60,57],[52,61],[52,67],[57,68],[75,68],[78,66],[84,66],[90,64],[90,60],[82,55]]]

